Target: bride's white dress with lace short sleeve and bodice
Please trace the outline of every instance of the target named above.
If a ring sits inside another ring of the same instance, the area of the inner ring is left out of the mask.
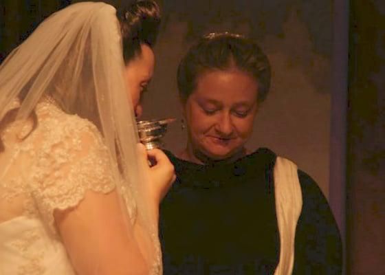
[[[86,190],[115,188],[96,126],[47,100],[38,125],[14,122],[0,153],[0,274],[75,274],[54,224],[54,210],[76,206]],[[85,142],[87,140],[87,142]],[[133,219],[134,206],[128,206]]]

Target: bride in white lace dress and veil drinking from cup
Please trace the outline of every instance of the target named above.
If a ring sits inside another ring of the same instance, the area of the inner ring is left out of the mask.
[[[1,64],[0,274],[162,273],[175,175],[135,124],[159,19],[153,0],[76,3]]]

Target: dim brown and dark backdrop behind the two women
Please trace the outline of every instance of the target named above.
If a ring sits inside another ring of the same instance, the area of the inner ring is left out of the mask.
[[[0,60],[70,2],[0,0]],[[385,1],[159,3],[164,25],[144,118],[180,118],[175,72],[199,35],[254,37],[274,74],[248,146],[269,146],[318,181],[346,231],[347,274],[385,274]],[[185,138],[175,123],[167,147],[178,151]]]

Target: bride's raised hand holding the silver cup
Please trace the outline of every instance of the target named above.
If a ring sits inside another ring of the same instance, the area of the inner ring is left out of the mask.
[[[150,199],[158,205],[176,179],[174,166],[159,149],[147,151],[143,144],[138,144],[137,149],[140,162],[146,171],[146,192]],[[151,161],[153,166],[149,166],[148,161]]]

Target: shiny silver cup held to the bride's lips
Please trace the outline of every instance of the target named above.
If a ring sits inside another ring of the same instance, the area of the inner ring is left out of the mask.
[[[167,125],[175,121],[175,118],[164,120],[141,120],[136,122],[139,139],[147,150],[162,148],[162,137],[167,131]]]

